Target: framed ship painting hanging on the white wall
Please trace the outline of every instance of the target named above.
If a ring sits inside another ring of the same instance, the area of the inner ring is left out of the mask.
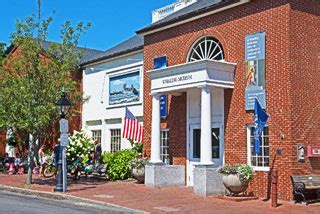
[[[140,101],[139,72],[110,78],[109,105],[125,104]]]

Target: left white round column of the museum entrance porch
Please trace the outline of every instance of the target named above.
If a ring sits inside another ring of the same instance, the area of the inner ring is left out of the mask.
[[[151,160],[150,163],[162,163],[160,158],[160,95],[152,96],[151,125]]]

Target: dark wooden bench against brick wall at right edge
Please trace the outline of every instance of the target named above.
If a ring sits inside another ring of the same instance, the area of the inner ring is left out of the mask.
[[[307,205],[320,199],[320,175],[292,175],[294,203]]]

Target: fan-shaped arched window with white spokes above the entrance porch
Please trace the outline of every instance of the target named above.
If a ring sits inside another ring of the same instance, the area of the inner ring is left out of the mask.
[[[195,43],[195,45],[190,50],[188,62],[194,62],[204,59],[224,59],[223,49],[219,40],[211,36],[206,36]]]

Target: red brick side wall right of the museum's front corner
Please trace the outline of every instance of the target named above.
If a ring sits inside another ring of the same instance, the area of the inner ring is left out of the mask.
[[[294,160],[296,144],[320,145],[320,2],[291,1],[290,12],[290,96],[293,100],[293,174],[320,173],[320,158]]]

